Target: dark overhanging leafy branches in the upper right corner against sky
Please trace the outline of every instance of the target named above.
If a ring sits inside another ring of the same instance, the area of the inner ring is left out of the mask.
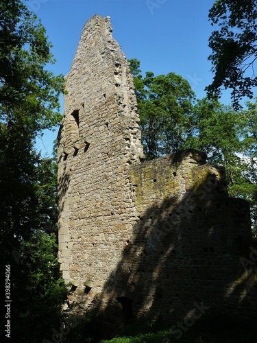
[[[212,32],[209,47],[212,54],[214,78],[206,87],[208,97],[220,95],[221,87],[232,89],[232,104],[240,107],[239,100],[253,97],[257,85],[254,64],[257,58],[257,1],[218,0],[212,5],[209,19],[217,29]]]

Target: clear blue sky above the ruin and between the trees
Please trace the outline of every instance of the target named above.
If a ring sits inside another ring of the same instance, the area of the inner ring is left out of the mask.
[[[201,99],[211,82],[208,10],[213,0],[29,0],[25,1],[47,30],[57,60],[56,74],[69,73],[82,28],[95,15],[110,16],[113,36],[127,58],[155,75],[174,72],[190,82]],[[224,95],[224,104],[230,97]],[[61,99],[63,111],[63,99]],[[45,133],[38,150],[51,154],[57,132]]]

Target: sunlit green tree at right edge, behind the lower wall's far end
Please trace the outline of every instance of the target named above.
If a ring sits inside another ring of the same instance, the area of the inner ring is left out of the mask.
[[[257,180],[251,145],[257,141],[246,125],[249,111],[236,113],[230,106],[201,99],[195,105],[195,115],[198,132],[192,147],[206,152],[210,163],[225,167],[230,196],[245,198],[254,206]]]

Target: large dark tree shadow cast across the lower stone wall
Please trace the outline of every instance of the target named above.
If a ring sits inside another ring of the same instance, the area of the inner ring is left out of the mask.
[[[135,318],[172,323],[207,313],[256,316],[257,255],[245,234],[249,207],[244,200],[219,198],[219,185],[204,191],[212,179],[209,174],[180,201],[165,198],[138,217],[103,292],[88,293],[106,326],[122,327]]]

